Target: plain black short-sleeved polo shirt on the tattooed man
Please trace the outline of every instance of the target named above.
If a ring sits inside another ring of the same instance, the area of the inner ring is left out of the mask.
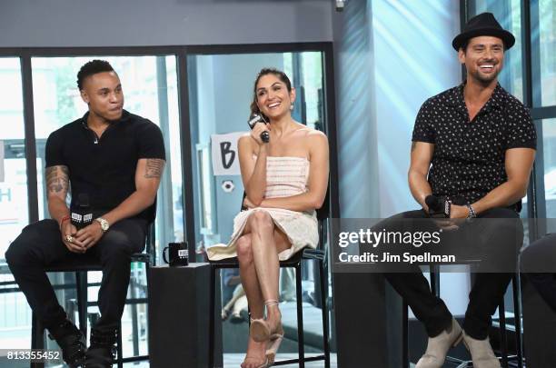
[[[135,168],[140,158],[165,160],[162,132],[151,121],[124,110],[100,138],[89,129],[89,113],[50,134],[46,167],[68,167],[72,208],[88,197],[96,214],[108,212],[135,191]],[[137,217],[154,219],[154,204]],[[95,215],[96,215],[95,214]]]

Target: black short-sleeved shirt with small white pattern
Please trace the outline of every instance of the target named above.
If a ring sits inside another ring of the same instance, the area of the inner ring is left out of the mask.
[[[463,86],[422,104],[412,141],[434,144],[428,177],[432,194],[462,197],[472,204],[508,180],[506,150],[536,149],[537,134],[529,110],[501,85],[470,122]],[[521,210],[521,201],[516,210]]]

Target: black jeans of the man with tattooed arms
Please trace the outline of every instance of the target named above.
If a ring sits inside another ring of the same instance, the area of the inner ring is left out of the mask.
[[[142,252],[147,222],[124,219],[113,226],[85,254],[74,254],[62,243],[55,220],[29,224],[10,244],[5,259],[27,303],[46,328],[64,321],[64,309],[56,300],[52,284],[46,277],[49,264],[78,264],[84,257],[94,257],[103,266],[103,280],[98,292],[101,318],[95,325],[100,333],[112,333],[124,313],[125,297],[131,272],[131,255]]]

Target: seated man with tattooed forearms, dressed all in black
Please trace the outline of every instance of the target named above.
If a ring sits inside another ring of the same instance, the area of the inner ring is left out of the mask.
[[[105,61],[82,66],[77,85],[89,111],[50,134],[46,188],[51,219],[25,227],[5,254],[27,302],[71,366],[112,366],[116,328],[124,312],[131,254],[144,249],[154,220],[165,156],[160,129],[123,109],[118,75]],[[70,186],[71,185],[71,186]],[[65,199],[71,191],[71,214]],[[91,218],[84,214],[92,213]],[[75,221],[79,229],[75,226]],[[87,223],[88,221],[88,223]],[[66,319],[44,267],[94,257],[103,265],[101,318],[84,336]]]

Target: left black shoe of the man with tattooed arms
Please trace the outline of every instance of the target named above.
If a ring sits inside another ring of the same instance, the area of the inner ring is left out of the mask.
[[[74,323],[65,320],[53,328],[49,328],[49,337],[55,340],[62,349],[62,357],[71,368],[79,367],[84,363],[85,338],[83,333],[75,327]]]

